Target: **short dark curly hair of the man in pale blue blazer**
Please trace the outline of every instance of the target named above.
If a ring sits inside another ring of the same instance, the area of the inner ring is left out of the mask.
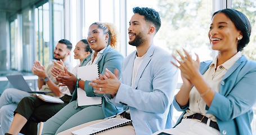
[[[156,33],[158,32],[158,30],[161,27],[161,19],[157,11],[155,11],[153,8],[148,7],[134,7],[132,10],[133,13],[138,13],[144,16],[146,21],[149,21],[152,24],[154,24],[156,28]]]

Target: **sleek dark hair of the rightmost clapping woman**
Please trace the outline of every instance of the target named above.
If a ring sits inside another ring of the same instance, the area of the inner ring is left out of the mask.
[[[235,24],[237,30],[241,31],[242,39],[237,42],[237,51],[242,51],[246,44],[250,42],[251,25],[248,18],[244,13],[230,8],[214,12],[213,16],[221,12],[224,13],[233,22],[233,24]]]

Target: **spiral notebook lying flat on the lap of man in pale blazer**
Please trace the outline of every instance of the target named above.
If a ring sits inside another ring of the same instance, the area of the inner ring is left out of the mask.
[[[97,134],[97,133],[107,131],[109,129],[121,127],[121,126],[123,126],[125,124],[128,124],[128,123],[132,123],[132,120],[111,118],[111,119],[108,119],[104,122],[89,125],[88,127],[78,129],[77,131],[73,131],[71,133],[73,133],[74,135],[82,135],[82,134],[83,135],[84,134],[93,135],[93,134]]]

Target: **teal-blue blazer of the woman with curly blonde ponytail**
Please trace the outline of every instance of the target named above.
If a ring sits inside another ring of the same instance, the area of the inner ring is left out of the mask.
[[[91,61],[91,55],[87,56],[86,59],[83,60],[81,64],[82,66],[85,66],[89,61]],[[124,57],[118,51],[114,50],[110,46],[107,46],[97,61],[100,74],[104,74],[106,68],[109,69],[112,73],[114,73],[114,69],[118,69],[120,71],[123,59]],[[86,80],[84,83],[84,91],[86,92],[86,95],[88,97],[103,97],[104,95],[93,92],[95,89],[93,89],[92,86],[88,84],[89,82],[91,81]],[[73,92],[71,101],[74,100],[77,100],[77,88],[75,88],[75,91]],[[102,98],[102,110],[104,111],[105,117],[109,117],[119,113],[120,111],[123,111],[122,108],[116,107],[107,102],[104,97]]]

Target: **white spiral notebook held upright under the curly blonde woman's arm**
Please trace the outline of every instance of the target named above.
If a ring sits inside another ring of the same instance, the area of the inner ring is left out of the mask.
[[[77,78],[81,78],[82,80],[95,80],[99,77],[98,75],[97,64],[81,66],[77,69]],[[81,88],[77,89],[77,96],[78,106],[101,104],[101,97],[88,97],[86,92]]]

